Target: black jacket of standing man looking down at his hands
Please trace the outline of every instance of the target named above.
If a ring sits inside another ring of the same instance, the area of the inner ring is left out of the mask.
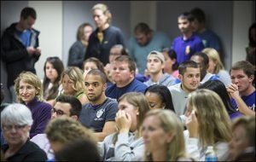
[[[5,62],[8,73],[8,87],[14,85],[14,80],[23,71],[36,73],[35,63],[40,55],[29,55],[26,47],[15,36],[17,23],[13,23],[4,32],[1,38],[1,61]],[[38,47],[39,32],[32,29],[31,46]]]

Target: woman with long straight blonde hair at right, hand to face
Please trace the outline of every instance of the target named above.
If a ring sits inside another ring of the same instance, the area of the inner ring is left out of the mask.
[[[197,160],[205,160],[212,146],[218,161],[228,153],[232,134],[230,117],[219,95],[212,90],[195,90],[188,96],[184,131],[187,152]]]

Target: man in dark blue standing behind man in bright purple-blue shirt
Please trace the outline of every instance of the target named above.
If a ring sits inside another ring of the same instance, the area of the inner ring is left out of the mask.
[[[201,38],[204,47],[213,48],[220,52],[218,35],[207,28],[207,20],[204,11],[200,8],[194,8],[190,10],[190,13],[195,17],[192,23],[193,31]]]

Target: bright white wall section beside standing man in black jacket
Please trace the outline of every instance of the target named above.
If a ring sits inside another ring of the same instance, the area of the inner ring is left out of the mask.
[[[38,17],[34,28],[40,31],[39,46],[42,54],[35,67],[40,78],[44,78],[44,61],[49,56],[62,58],[62,2],[28,1],[36,9]]]

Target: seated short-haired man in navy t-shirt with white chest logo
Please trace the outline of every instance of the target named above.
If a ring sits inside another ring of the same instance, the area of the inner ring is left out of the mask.
[[[114,117],[118,111],[117,101],[106,97],[107,76],[99,69],[92,69],[84,79],[85,94],[90,101],[83,106],[79,121],[93,129],[98,141],[115,131]]]

